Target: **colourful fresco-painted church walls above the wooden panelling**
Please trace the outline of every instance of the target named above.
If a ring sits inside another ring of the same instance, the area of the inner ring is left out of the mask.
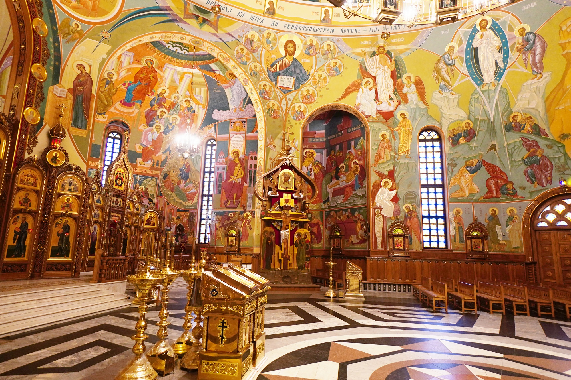
[[[31,154],[61,105],[62,146],[89,176],[107,165],[110,131],[128,130],[133,188],[163,208],[178,242],[202,231],[222,249],[233,225],[258,252],[256,178],[286,145],[317,184],[310,240],[324,251],[333,227],[346,250],[387,250],[387,228],[400,220],[411,250],[462,252],[476,216],[490,251],[515,258],[530,200],[571,176],[564,2],[524,0],[410,29],[286,0],[230,1],[220,14],[203,1],[45,7],[57,54]],[[198,155],[179,155],[184,132],[202,140]],[[204,199],[212,213],[201,216]],[[435,221],[423,224],[430,202]],[[201,230],[201,220],[210,225]]]

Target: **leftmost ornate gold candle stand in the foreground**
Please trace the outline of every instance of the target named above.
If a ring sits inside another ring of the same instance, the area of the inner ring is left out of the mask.
[[[153,234],[148,232],[147,234]],[[152,236],[149,236],[152,238]],[[127,276],[127,281],[135,286],[140,304],[139,304],[139,320],[135,324],[136,334],[131,337],[135,341],[132,352],[135,357],[115,376],[115,380],[155,380],[157,373],[148,361],[144,352],[146,347],[144,341],[148,338],[145,334],[147,329],[147,301],[150,300],[151,293],[157,285],[164,281],[164,277],[159,274],[151,273],[151,261],[147,250],[147,261],[144,270],[140,273]]]

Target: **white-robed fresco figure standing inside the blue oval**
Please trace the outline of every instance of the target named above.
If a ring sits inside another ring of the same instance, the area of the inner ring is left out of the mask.
[[[491,29],[488,29],[487,19],[482,18],[479,26],[480,31],[476,33],[472,46],[478,48],[478,61],[480,71],[482,72],[482,78],[484,78],[482,88],[484,88],[488,83],[492,83],[492,87],[496,87],[496,83],[494,82],[496,76],[496,62],[498,66],[504,67],[502,54],[499,52],[501,42],[496,34]]]

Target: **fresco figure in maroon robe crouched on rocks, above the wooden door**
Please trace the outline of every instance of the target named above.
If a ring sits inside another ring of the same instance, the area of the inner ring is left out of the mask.
[[[537,188],[537,185],[546,187],[552,184],[553,179],[553,163],[545,156],[544,149],[541,149],[536,140],[521,138],[527,153],[522,157],[522,161],[526,168],[524,169],[525,179]]]

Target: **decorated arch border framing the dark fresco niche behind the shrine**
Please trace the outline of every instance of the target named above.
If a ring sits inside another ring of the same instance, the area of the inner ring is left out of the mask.
[[[351,114],[353,116],[355,116],[357,118],[357,120],[359,120],[360,123],[363,124],[364,127],[364,139],[365,139],[365,149],[364,149],[364,154],[365,154],[365,170],[367,171],[367,175],[366,175],[366,183],[365,183],[365,188],[367,189],[367,192],[365,193],[365,204],[364,205],[356,205],[355,207],[365,207],[367,208],[367,219],[366,219],[366,226],[365,229],[368,232],[370,230],[369,226],[372,225],[372,211],[371,211],[371,207],[372,207],[372,180],[371,180],[371,128],[369,126],[369,123],[367,122],[367,118],[365,118],[365,116],[359,111],[357,110],[357,108],[352,107],[352,106],[348,106],[347,104],[339,104],[339,103],[333,103],[333,104],[325,104],[324,106],[318,107],[315,110],[313,110],[308,116],[307,118],[304,120],[303,124],[301,124],[301,132],[300,132],[300,141],[303,144],[303,134],[304,131],[307,130],[309,124],[311,122],[313,122],[313,120],[315,120],[317,115],[323,114],[323,112],[327,112],[327,111],[343,111],[343,112],[347,112],[348,114]],[[300,153],[300,161],[299,161],[299,167],[301,168],[302,162],[303,162],[303,151],[304,149],[301,149],[301,153]],[[326,209],[324,209],[325,211]],[[345,238],[349,238],[349,236],[345,237]],[[371,242],[371,238],[370,236],[367,238],[367,245],[369,247],[369,249],[372,247],[372,242]]]

